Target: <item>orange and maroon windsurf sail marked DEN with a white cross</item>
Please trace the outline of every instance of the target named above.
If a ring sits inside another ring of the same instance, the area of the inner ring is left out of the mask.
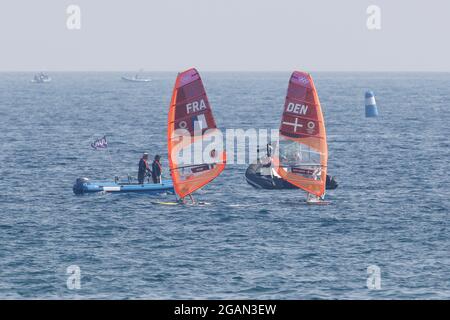
[[[328,148],[319,97],[311,75],[291,75],[280,125],[277,173],[316,196],[325,194]]]

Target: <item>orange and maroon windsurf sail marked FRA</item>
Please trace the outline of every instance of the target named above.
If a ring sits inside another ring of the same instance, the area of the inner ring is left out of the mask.
[[[204,145],[217,131],[199,73],[194,68],[179,73],[170,102],[167,130],[169,166],[179,197],[184,198],[208,184],[225,168],[226,153],[222,143],[213,148]]]

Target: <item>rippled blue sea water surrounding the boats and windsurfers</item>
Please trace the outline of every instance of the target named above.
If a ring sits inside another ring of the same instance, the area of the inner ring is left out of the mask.
[[[313,74],[340,182],[325,207],[253,189],[242,165],[197,195],[204,207],[75,196],[77,177],[135,175],[142,151],[167,173],[176,74],[121,75],[0,74],[0,298],[450,298],[450,74]],[[218,125],[244,129],[278,127],[289,75],[202,74]],[[89,146],[104,134],[112,164]]]

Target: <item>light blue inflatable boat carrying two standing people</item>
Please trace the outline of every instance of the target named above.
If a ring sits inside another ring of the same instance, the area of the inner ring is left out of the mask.
[[[78,178],[73,185],[75,194],[95,192],[141,192],[149,194],[173,193],[172,180],[163,180],[162,183],[136,183],[129,181],[90,181],[88,178]]]

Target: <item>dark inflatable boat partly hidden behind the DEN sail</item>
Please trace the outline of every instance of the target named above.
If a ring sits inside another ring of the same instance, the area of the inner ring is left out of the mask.
[[[262,163],[251,164],[245,171],[247,183],[257,189],[298,189],[293,184],[282,179],[273,167]],[[327,175],[326,189],[334,190],[338,187],[336,179]]]

